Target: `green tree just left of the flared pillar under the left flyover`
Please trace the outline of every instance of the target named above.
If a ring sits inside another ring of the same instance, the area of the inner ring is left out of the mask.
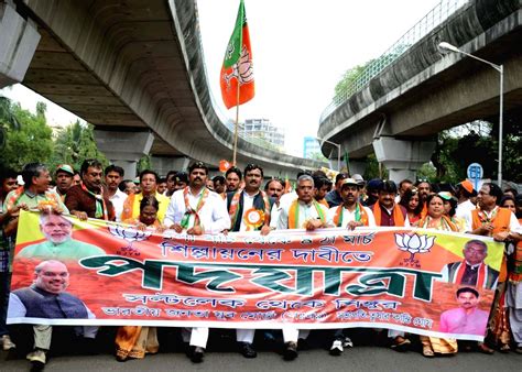
[[[94,127],[84,124],[78,120],[61,129],[54,141],[54,154],[50,164],[51,168],[58,164],[70,164],[75,169],[79,169],[86,158],[97,158],[104,166],[109,162],[96,145]]]

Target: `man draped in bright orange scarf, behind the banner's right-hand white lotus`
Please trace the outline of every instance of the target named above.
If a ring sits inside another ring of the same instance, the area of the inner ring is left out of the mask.
[[[406,209],[395,203],[396,185],[393,180],[381,180],[378,186],[379,200],[371,206],[377,226],[410,227]],[[392,339],[391,348],[406,351],[412,343],[404,332],[390,329],[388,337]]]

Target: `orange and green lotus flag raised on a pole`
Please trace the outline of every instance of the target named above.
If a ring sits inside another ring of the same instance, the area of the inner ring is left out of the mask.
[[[248,102],[254,96],[252,50],[243,0],[239,3],[236,26],[222,61],[220,85],[227,109]]]

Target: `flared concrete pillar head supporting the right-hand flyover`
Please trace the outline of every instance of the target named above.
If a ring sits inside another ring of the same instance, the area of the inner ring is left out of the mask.
[[[416,171],[429,162],[435,144],[435,141],[403,141],[381,136],[373,141],[373,150],[377,161],[389,171],[390,179],[399,183],[404,178],[416,178]]]

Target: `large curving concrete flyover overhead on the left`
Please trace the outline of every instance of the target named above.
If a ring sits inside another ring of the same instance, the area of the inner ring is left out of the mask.
[[[15,9],[41,35],[22,83],[93,123],[110,160],[132,169],[150,151],[165,172],[188,158],[210,165],[231,158],[233,135],[207,86],[195,0],[0,4]],[[9,81],[17,79],[20,74]],[[252,162],[280,176],[325,165],[240,139],[238,165]]]

